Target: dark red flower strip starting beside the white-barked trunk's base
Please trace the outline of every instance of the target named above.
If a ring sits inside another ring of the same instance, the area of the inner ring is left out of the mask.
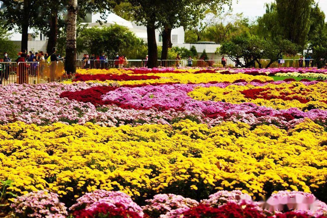
[[[76,74],[75,79],[73,82],[76,81],[88,81],[88,80],[99,80],[99,81],[106,81],[106,80],[114,80],[114,81],[127,81],[127,80],[146,80],[146,79],[159,79],[159,76],[147,76],[147,75],[140,75],[140,76],[130,76],[127,74],[122,75],[109,75],[109,74],[95,74],[95,75],[84,75],[84,74]]]

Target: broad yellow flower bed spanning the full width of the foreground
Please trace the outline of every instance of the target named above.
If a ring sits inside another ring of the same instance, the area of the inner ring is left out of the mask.
[[[327,134],[305,119],[285,131],[226,122],[101,127],[15,122],[0,126],[0,179],[24,194],[47,188],[68,199],[95,189],[201,194],[240,189],[319,192],[326,183]]]

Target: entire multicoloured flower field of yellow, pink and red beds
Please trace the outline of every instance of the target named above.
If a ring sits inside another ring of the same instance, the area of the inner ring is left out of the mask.
[[[78,69],[0,89],[12,216],[327,215],[326,70]]]

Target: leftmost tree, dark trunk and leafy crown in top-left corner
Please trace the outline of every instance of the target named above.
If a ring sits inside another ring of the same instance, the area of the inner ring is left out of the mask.
[[[5,27],[9,30],[16,28],[22,33],[21,50],[27,49],[28,28],[33,26],[34,18],[41,10],[38,0],[2,0],[1,17],[5,20]]]

